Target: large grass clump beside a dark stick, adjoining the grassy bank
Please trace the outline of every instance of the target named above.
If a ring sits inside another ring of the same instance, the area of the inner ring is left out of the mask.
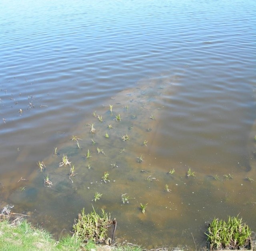
[[[74,236],[82,241],[103,242],[107,237],[111,220],[110,214],[106,213],[104,209],[101,210],[101,214],[98,214],[93,208],[91,213],[86,214],[83,208],[73,225]]]

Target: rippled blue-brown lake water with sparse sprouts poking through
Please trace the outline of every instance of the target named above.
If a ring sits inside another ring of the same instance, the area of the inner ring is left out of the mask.
[[[203,247],[214,217],[256,230],[255,13],[253,0],[1,1],[0,207],[56,236],[104,208],[117,241],[147,248]]]

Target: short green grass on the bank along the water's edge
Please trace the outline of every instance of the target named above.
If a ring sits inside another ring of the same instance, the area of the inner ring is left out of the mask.
[[[12,225],[7,220],[0,221],[0,250],[1,251],[36,251],[36,250],[103,250],[101,245],[88,241],[85,245],[80,239],[67,235],[56,241],[52,235],[44,229],[33,227],[26,220],[18,225]],[[141,251],[138,246],[111,247],[114,251]]]

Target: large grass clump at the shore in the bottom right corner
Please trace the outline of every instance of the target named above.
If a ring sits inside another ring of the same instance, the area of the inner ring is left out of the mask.
[[[229,216],[228,221],[214,218],[205,234],[211,249],[240,249],[248,247],[251,233],[248,225],[242,223],[242,218]]]

